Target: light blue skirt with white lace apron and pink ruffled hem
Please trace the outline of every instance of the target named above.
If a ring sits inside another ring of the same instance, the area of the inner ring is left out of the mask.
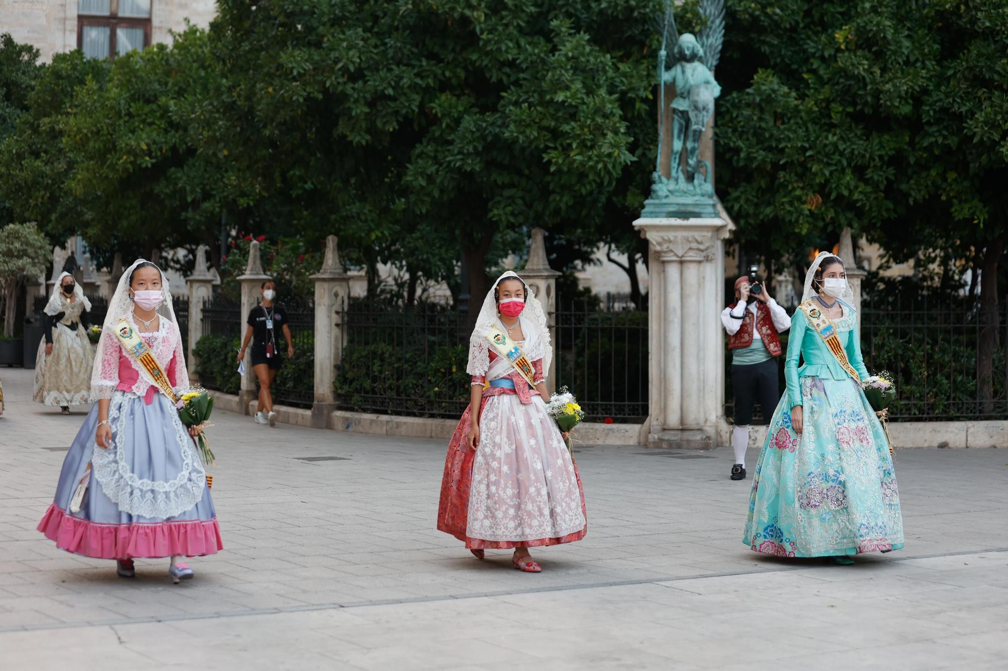
[[[107,559],[213,554],[223,548],[206,472],[174,406],[117,391],[112,447],[95,444],[98,404],[64,460],[56,494],[38,530],[76,554]],[[70,511],[92,464],[81,510]]]

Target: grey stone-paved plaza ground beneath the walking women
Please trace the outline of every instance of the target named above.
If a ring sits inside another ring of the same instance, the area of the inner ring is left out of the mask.
[[[0,376],[5,670],[1005,668],[1008,450],[897,452],[905,549],[834,566],[742,544],[727,449],[586,446],[588,536],[526,574],[434,529],[440,441],[218,412],[225,550],[172,585],[35,531],[83,412]]]

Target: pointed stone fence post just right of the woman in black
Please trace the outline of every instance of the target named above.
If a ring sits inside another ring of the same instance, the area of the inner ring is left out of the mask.
[[[311,404],[311,426],[326,428],[329,416],[336,410],[333,383],[336,367],[343,361],[345,331],[341,312],[350,299],[350,275],[343,272],[336,236],[326,238],[326,258],[322,270],[311,276],[316,283],[314,297],[314,402]]]

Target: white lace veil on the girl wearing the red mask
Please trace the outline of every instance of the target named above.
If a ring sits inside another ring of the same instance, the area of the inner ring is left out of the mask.
[[[521,279],[514,271],[507,271],[497,278],[483,299],[483,307],[476,319],[476,327],[473,328],[473,334],[469,339],[469,363],[466,366],[466,372],[470,375],[486,375],[490,369],[490,342],[487,341],[487,332],[492,325],[498,322],[494,290],[501,282],[510,278]],[[524,280],[522,282],[524,283]],[[521,332],[525,334],[522,350],[529,362],[542,360],[542,374],[545,376],[553,359],[546,313],[542,310],[542,303],[539,302],[539,299],[531,290],[527,289],[527,284],[525,286],[528,291],[528,295],[525,297],[525,308],[518,316],[521,322]]]

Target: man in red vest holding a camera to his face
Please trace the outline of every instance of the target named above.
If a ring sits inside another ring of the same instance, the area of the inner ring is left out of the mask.
[[[732,480],[746,477],[746,447],[753,404],[758,400],[764,418],[769,419],[780,400],[775,359],[781,355],[781,347],[777,333],[791,327],[791,317],[757,281],[756,271],[757,267],[752,266],[748,276],[735,280],[736,302],[721,313],[721,322],[728,331],[728,349],[732,351],[735,395]]]

